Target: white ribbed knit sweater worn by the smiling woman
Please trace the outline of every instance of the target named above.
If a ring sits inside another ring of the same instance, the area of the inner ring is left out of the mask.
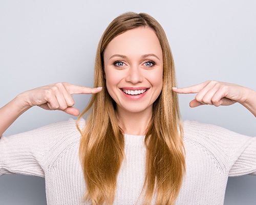
[[[86,184],[78,158],[79,141],[73,119],[2,136],[0,174],[45,177],[49,205],[90,204],[82,202]],[[176,204],[223,204],[228,176],[256,175],[255,137],[185,121],[184,146],[186,175]],[[144,136],[125,135],[125,154],[114,204],[142,204]]]

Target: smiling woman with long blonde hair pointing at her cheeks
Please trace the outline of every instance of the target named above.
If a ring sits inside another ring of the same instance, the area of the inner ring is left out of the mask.
[[[221,204],[228,176],[256,174],[255,138],[182,123],[176,94],[198,93],[191,107],[238,102],[256,116],[256,92],[217,81],[176,88],[167,38],[151,16],[125,13],[106,28],[94,87],[49,85],[1,108],[2,135],[32,106],[79,115],[71,94],[95,94],[77,123],[2,136],[1,173],[44,176],[48,204]]]

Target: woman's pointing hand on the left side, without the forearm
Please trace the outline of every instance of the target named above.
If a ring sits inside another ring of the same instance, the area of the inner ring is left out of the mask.
[[[92,94],[101,90],[101,87],[88,88],[69,83],[56,83],[21,93],[19,99],[22,99],[24,106],[28,108],[39,106],[45,110],[61,110],[77,116],[79,110],[73,107],[75,101],[72,94]]]

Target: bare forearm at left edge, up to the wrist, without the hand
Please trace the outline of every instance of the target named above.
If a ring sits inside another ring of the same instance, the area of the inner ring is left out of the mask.
[[[4,107],[0,108],[0,136],[13,124],[13,122],[30,107],[27,106],[22,95],[18,95]]]

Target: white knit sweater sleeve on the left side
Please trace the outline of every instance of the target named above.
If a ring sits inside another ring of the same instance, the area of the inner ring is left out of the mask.
[[[76,130],[75,120],[70,119],[20,134],[1,136],[0,175],[44,177],[51,148],[72,130]]]

